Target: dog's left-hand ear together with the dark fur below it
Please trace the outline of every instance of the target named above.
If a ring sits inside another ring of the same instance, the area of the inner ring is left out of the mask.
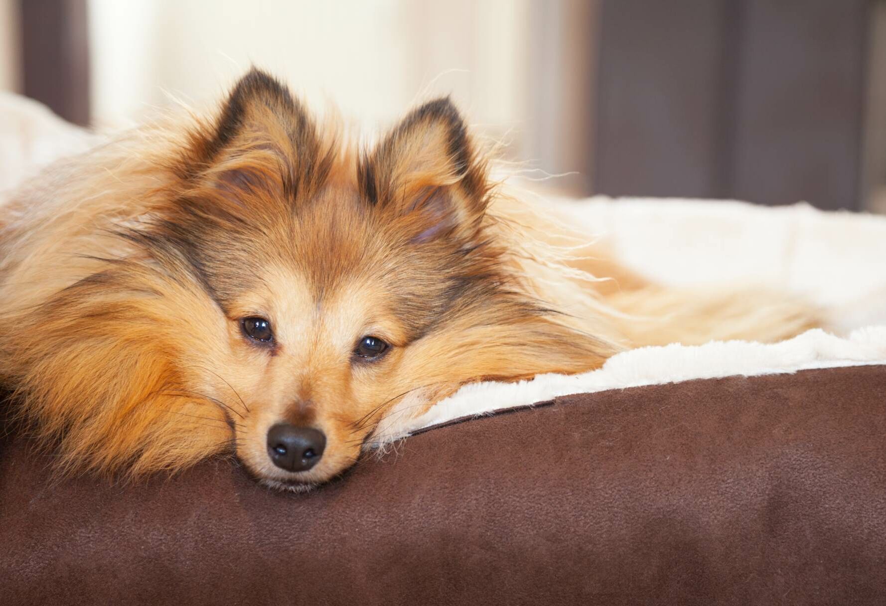
[[[244,251],[255,239],[255,217],[279,221],[313,198],[330,171],[334,149],[321,141],[298,99],[253,68],[217,117],[190,131],[169,166],[177,178],[152,219],[118,234],[161,266],[184,268],[214,300],[223,301],[237,284],[227,268],[252,254]]]

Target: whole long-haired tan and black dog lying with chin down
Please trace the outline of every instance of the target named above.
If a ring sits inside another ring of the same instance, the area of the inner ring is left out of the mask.
[[[473,381],[818,323],[570,245],[494,181],[448,98],[352,140],[253,69],[217,113],[63,160],[0,209],[0,384],[59,471],[230,453],[299,490],[353,465],[392,411]]]

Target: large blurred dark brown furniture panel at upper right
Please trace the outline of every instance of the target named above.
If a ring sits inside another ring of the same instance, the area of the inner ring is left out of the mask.
[[[595,191],[858,210],[872,4],[602,0]]]

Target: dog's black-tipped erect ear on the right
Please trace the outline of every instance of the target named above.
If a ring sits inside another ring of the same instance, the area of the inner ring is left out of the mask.
[[[486,210],[486,162],[448,97],[421,105],[361,159],[362,195],[416,242],[470,237]]]

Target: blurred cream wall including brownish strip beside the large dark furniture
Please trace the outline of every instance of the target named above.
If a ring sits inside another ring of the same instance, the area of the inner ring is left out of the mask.
[[[4,0],[0,0],[2,2]],[[369,130],[452,94],[509,159],[587,191],[599,0],[89,0],[97,126],[204,106],[252,63]]]

